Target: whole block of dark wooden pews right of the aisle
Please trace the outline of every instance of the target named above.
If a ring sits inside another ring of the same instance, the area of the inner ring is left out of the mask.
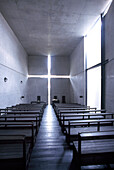
[[[78,104],[54,104],[66,141],[73,148],[76,169],[114,164],[114,113]]]

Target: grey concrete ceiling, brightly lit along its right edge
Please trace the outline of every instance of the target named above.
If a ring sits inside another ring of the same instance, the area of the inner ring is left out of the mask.
[[[0,0],[28,55],[68,56],[109,0]]]

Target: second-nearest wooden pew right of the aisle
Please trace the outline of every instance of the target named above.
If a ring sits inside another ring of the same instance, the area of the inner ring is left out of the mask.
[[[68,128],[66,128],[66,141],[72,144],[74,140],[78,139],[79,132],[92,132],[100,130],[114,130],[114,119],[88,119],[69,121]]]

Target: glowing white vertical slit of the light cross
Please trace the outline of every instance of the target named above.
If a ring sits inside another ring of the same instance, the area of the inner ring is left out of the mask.
[[[50,75],[51,75],[51,56],[49,54],[48,55],[48,105],[50,105],[50,90],[51,90]]]

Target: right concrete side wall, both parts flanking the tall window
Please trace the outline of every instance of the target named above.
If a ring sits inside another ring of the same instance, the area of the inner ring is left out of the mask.
[[[114,111],[114,2],[105,16],[105,108]],[[73,51],[70,57],[70,101],[84,104],[84,40]]]

